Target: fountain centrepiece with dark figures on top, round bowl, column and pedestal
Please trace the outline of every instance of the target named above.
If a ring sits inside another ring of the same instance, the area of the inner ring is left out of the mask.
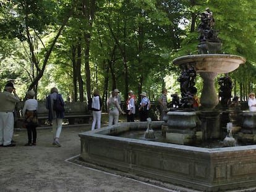
[[[194,94],[192,92],[196,93],[196,91],[194,91],[197,90],[194,87],[195,72],[199,73],[200,76],[203,78],[203,90],[200,98],[200,102],[202,104],[202,111],[197,114],[197,116],[200,117],[202,123],[201,128],[199,131],[197,131],[196,126],[190,127],[185,134],[190,138],[190,140],[186,140],[186,143],[198,140],[198,136],[196,135],[199,132],[202,135],[200,140],[206,141],[220,138],[221,112],[215,110],[215,107],[219,102],[218,95],[215,89],[215,78],[218,74],[227,74],[229,72],[233,72],[239,67],[239,65],[245,63],[244,57],[218,53],[221,51],[222,43],[218,38],[218,31],[213,29],[213,21],[213,15],[210,10],[206,10],[201,14],[201,23],[198,27],[198,31],[200,32],[200,36],[198,37],[198,40],[200,40],[200,44],[198,44],[198,52],[200,54],[178,57],[173,61],[173,64],[178,65],[182,69],[182,73],[185,73],[187,75],[188,82],[182,82],[181,85],[181,92],[183,90],[183,92],[181,93],[182,98],[184,96],[187,97],[187,95],[190,94],[192,94],[192,96],[190,96],[192,98]],[[182,76],[184,75],[181,75],[181,77]],[[187,112],[186,109],[184,109],[184,111],[176,112],[176,116],[182,116],[184,112]],[[174,136],[173,133],[177,134],[177,132],[180,130],[178,128],[180,121],[179,117],[173,117],[173,113],[173,111],[167,113],[168,118],[173,120],[171,124],[168,122],[166,123],[166,126],[169,127],[169,130],[166,129],[166,132],[172,133],[171,135]],[[174,119],[177,120],[175,121]],[[177,129],[173,127],[177,127]],[[171,130],[171,128],[173,130]],[[194,130],[194,132],[192,132],[192,130]],[[184,136],[184,134],[179,134],[177,136],[181,138],[181,136]],[[175,140],[176,138],[174,137],[171,141]],[[180,142],[177,144],[182,143],[185,143],[185,141],[180,140]]]

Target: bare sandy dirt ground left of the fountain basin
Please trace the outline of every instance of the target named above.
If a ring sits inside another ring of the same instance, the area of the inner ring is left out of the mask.
[[[61,148],[53,146],[51,128],[38,128],[36,146],[24,146],[27,131],[15,130],[16,146],[0,148],[0,192],[173,191],[69,162],[80,154],[78,134],[88,130],[90,125],[63,127]]]

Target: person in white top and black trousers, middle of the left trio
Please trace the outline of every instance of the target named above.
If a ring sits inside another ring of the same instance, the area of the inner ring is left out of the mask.
[[[25,117],[24,127],[27,128],[28,143],[25,146],[36,145],[36,127],[38,126],[37,109],[38,102],[34,99],[35,92],[30,90],[27,92],[27,101],[24,103],[22,114]],[[32,141],[33,135],[33,141]]]

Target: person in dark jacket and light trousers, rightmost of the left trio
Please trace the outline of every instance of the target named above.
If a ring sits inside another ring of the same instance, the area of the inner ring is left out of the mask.
[[[57,88],[51,88],[51,94],[46,99],[46,109],[49,110],[48,119],[53,125],[53,145],[61,147],[59,143],[59,136],[61,135],[62,120],[64,119],[64,111],[54,110],[54,100],[59,102],[64,107],[64,100],[61,94],[58,93]]]

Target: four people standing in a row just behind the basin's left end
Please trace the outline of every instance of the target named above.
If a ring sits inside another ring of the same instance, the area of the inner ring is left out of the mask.
[[[127,122],[134,122],[134,115],[135,115],[135,104],[136,104],[136,97],[133,91],[129,91],[129,98],[126,101],[126,109],[122,110],[121,108],[121,99],[119,95],[119,90],[114,89],[107,102],[107,109],[109,115],[109,125],[116,125],[119,120],[119,114],[127,115]],[[149,109],[150,109],[150,99],[147,97],[147,93],[142,92],[140,94],[142,97],[140,102],[140,121],[147,121],[149,117]],[[95,128],[100,128],[101,123],[101,98],[100,93],[98,90],[93,92],[92,98],[92,113],[93,113],[93,123],[92,123],[92,130]],[[97,126],[96,126],[97,125]]]

